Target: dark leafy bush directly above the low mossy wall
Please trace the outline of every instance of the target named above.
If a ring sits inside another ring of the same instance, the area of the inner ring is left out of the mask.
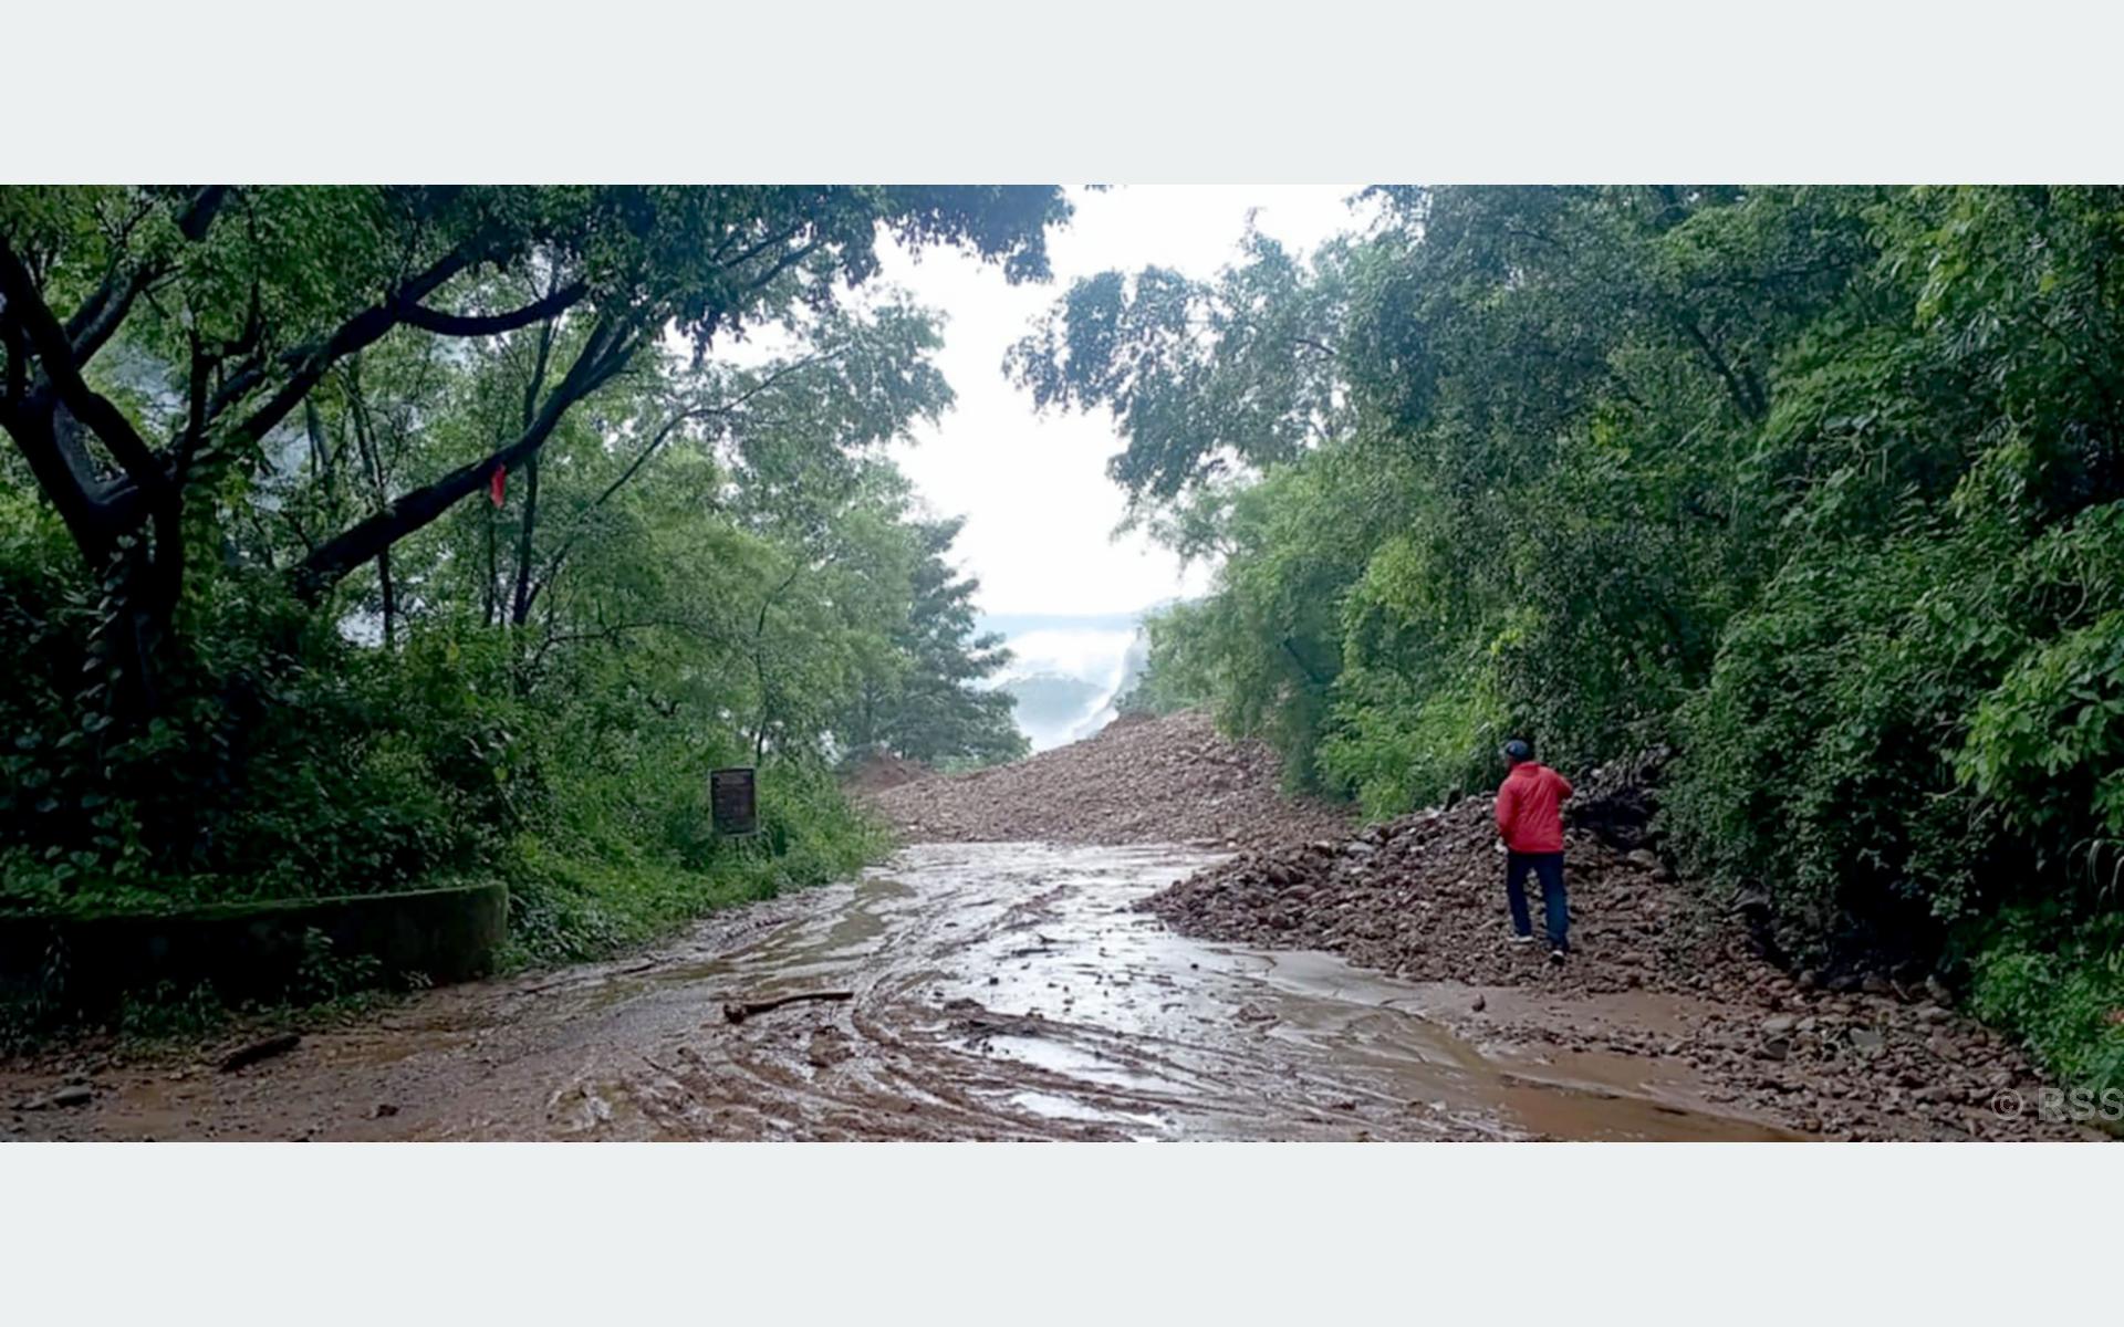
[[[391,890],[467,871],[508,839],[514,703],[491,671],[482,694],[478,669],[442,671],[425,650],[378,658],[278,584],[232,578],[187,603],[172,703],[119,724],[83,677],[93,607],[53,592],[72,569],[23,556],[45,524],[17,510],[0,548],[15,679],[0,694],[0,900]]]

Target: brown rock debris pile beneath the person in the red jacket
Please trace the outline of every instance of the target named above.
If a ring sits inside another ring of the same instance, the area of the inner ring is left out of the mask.
[[[1648,845],[1657,764],[1580,781],[1565,824],[1572,958],[1508,945],[1504,856],[1489,798],[1245,851],[1145,900],[1175,930],[1245,945],[1323,949],[1408,981],[1538,987],[1557,996],[1648,992],[1699,1009],[1686,1028],[1591,1034],[1553,1017],[1476,1017],[1483,1036],[1559,1051],[1667,1055],[1793,1127],[1842,1138],[2073,1138],[2041,1121],[2041,1079],[1937,983],[1822,983],[1763,955],[1742,913],[1695,896]],[[1540,930],[1540,890],[1529,881]],[[1470,1004],[1470,1017],[1483,1002]],[[2020,1106],[2016,1110],[2016,1106]]]

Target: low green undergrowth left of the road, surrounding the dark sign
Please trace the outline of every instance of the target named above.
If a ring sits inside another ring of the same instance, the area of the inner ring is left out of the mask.
[[[38,524],[11,527],[0,565],[0,614],[21,626],[8,633],[21,686],[0,694],[4,907],[132,911],[503,875],[523,951],[565,958],[830,879],[881,845],[803,752],[763,769],[760,837],[718,839],[707,773],[752,752],[629,696],[622,656],[573,669],[567,696],[520,694],[499,633],[435,626],[382,652],[289,603],[257,611],[270,582],[227,586],[221,616],[187,622],[200,648],[166,679],[189,703],[113,739],[98,711],[76,718],[47,662],[87,654],[91,616],[49,594],[66,578],[30,556]]]

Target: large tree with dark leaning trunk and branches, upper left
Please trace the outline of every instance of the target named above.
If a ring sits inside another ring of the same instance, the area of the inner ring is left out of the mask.
[[[799,327],[875,270],[879,227],[1037,276],[1062,214],[1049,189],[6,189],[0,427],[110,582],[102,639],[130,682],[123,709],[153,711],[187,527],[217,516],[193,495],[253,482],[276,429],[387,335],[537,329],[533,384],[520,427],[482,454],[321,531],[289,569],[310,601],[531,465],[667,329],[699,355],[748,327]],[[537,293],[518,301],[525,287]],[[132,393],[96,382],[123,374],[117,348],[140,369]]]

